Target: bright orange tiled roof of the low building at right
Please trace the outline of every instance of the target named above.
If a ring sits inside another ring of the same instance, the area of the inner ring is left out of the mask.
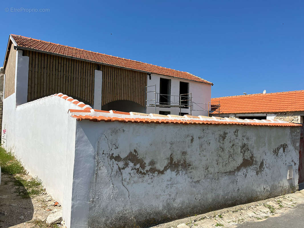
[[[248,94],[211,99],[220,113],[273,113],[304,111],[304,90]]]

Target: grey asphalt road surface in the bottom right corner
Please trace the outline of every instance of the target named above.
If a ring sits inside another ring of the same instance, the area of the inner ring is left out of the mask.
[[[304,227],[304,204],[295,206],[285,214],[278,217],[268,218],[264,221],[247,222],[237,226],[237,228],[303,228]]]

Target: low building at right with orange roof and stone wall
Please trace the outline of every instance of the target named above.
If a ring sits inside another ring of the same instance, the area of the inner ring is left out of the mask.
[[[211,103],[220,104],[219,113],[212,116],[303,123],[304,90],[218,97]]]

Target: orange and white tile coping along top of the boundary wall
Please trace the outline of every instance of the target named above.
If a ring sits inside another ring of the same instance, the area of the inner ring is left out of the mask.
[[[76,109],[69,109],[68,113],[72,118],[81,120],[89,120],[94,122],[122,122],[122,123],[157,123],[157,124],[202,124],[202,125],[240,125],[240,126],[274,126],[274,127],[300,127],[300,124],[288,123],[282,120],[276,119],[230,119],[221,117],[209,117],[209,116],[176,116],[176,115],[159,115],[159,114],[145,114],[139,112],[119,112],[119,111],[103,111],[98,109],[92,109],[90,105],[86,105],[83,102],[79,102],[62,93],[50,95],[48,97],[58,97],[74,104]],[[22,105],[27,105],[32,102],[37,102],[41,99],[47,99],[48,97],[40,98],[31,102],[27,102]],[[19,105],[19,106],[22,106]],[[19,107],[18,106],[18,107]]]

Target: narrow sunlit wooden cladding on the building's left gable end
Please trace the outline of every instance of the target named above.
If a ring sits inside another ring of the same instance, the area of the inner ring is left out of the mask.
[[[5,66],[5,86],[4,98],[15,92],[15,68],[16,68],[16,50],[12,44],[9,51],[9,57]]]

